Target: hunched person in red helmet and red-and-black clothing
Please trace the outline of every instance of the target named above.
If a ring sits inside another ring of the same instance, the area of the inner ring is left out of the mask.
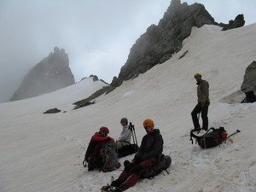
[[[102,145],[105,143],[114,143],[112,137],[108,137],[108,127],[102,126],[100,131],[96,132],[90,139],[90,143],[84,155],[84,160],[88,163],[88,171],[96,167],[102,167],[103,162],[100,157]]]

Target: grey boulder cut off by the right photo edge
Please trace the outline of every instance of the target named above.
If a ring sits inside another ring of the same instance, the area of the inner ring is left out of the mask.
[[[248,90],[253,90],[256,92],[256,61],[253,61],[246,69],[245,75],[243,77],[243,82],[241,84],[241,90],[247,92]]]

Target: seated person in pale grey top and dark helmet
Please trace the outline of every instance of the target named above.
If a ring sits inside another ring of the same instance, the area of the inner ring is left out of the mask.
[[[122,118],[120,120],[120,124],[122,125],[123,129],[120,133],[119,140],[116,142],[117,149],[123,148],[123,146],[131,144],[131,130],[129,129],[128,119]]]

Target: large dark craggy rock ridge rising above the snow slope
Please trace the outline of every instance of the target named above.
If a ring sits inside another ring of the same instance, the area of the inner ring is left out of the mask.
[[[159,25],[149,26],[131,47],[128,60],[121,68],[119,77],[113,78],[109,91],[124,80],[136,78],[138,74],[170,59],[172,54],[182,49],[183,39],[189,37],[192,27],[205,24],[217,25],[202,4],[189,6],[181,4],[180,0],[172,0]]]

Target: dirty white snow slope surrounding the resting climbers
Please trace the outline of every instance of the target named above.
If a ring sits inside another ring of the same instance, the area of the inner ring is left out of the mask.
[[[88,172],[82,166],[84,153],[102,125],[118,138],[123,117],[135,125],[139,145],[146,134],[143,120],[153,119],[164,138],[164,154],[172,157],[169,175],[139,180],[128,192],[256,191],[256,103],[240,103],[245,70],[256,60],[255,42],[256,24],[226,32],[202,26],[170,60],[96,98],[96,104],[73,110],[73,102],[106,85],[92,79],[1,103],[0,191],[100,191],[134,155],[119,159],[122,166],[114,172]],[[209,126],[224,126],[229,134],[241,131],[233,143],[202,149],[189,141],[197,100],[194,73],[210,84]],[[61,113],[44,114],[49,108]]]

